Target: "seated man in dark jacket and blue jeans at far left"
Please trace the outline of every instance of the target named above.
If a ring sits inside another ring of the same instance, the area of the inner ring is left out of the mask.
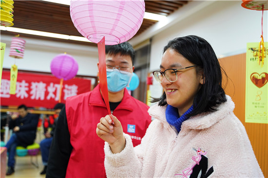
[[[9,121],[9,129],[13,129],[14,133],[5,145],[7,152],[9,153],[6,175],[11,175],[15,172],[16,147],[27,147],[28,145],[33,144],[36,139],[39,115],[28,113],[25,105],[20,105],[18,110],[19,117],[18,115],[13,114]]]

